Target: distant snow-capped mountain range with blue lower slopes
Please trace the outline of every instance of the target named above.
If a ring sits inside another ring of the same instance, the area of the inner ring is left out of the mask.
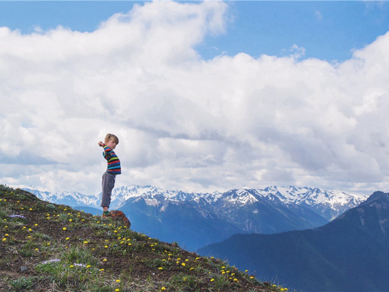
[[[101,194],[25,190],[45,201],[101,213]],[[355,194],[294,186],[187,193],[129,185],[113,190],[110,209],[123,211],[139,232],[195,251],[237,233],[274,234],[322,226],[365,200]]]

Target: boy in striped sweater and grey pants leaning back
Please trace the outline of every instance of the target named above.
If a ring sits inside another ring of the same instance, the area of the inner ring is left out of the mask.
[[[99,142],[99,146],[104,148],[103,156],[108,165],[106,172],[103,174],[101,205],[103,207],[103,217],[110,216],[108,212],[111,203],[112,189],[115,186],[115,177],[122,173],[119,157],[113,151],[119,144],[119,139],[114,134],[107,134],[105,143]]]

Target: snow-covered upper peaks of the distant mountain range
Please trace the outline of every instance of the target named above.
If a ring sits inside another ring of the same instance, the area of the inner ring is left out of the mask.
[[[38,198],[54,203],[71,206],[100,207],[101,193],[97,196],[86,196],[77,192],[49,193],[35,189],[25,189]],[[264,189],[240,188],[220,193],[186,193],[180,190],[164,190],[152,185],[128,185],[113,189],[111,209],[120,208],[131,198],[147,198],[147,204],[158,205],[162,201],[177,203],[180,201],[193,202],[198,207],[209,208],[222,200],[229,202],[229,207],[257,204],[259,201],[273,201],[274,204],[299,205],[306,207],[327,220],[333,220],[348,209],[358,206],[367,197],[356,194],[346,194],[336,190],[295,186],[268,186]],[[254,212],[255,210],[253,210]],[[256,210],[255,212],[258,212]]]

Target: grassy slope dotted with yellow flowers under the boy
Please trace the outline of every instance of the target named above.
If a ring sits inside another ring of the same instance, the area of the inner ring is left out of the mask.
[[[172,230],[172,232],[175,232]],[[248,271],[0,185],[0,292],[279,292]]]

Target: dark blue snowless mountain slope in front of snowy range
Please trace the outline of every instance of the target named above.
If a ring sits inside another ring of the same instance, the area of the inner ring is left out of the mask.
[[[303,291],[389,291],[389,193],[375,192],[332,222],[273,235],[234,235],[198,252],[228,258]]]

